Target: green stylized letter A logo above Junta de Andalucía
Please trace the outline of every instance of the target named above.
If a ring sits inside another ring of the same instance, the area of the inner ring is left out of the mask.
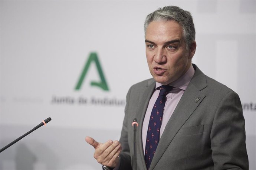
[[[76,88],[75,90],[79,90],[81,88],[81,85],[83,83],[83,80],[85,79],[85,76],[87,74],[87,71],[90,67],[90,65],[92,64],[92,62],[95,62],[96,64],[96,67],[97,67],[97,70],[98,70],[98,73],[99,73],[99,76],[101,78],[101,81],[100,82],[95,82],[95,81],[92,81],[91,82],[91,86],[98,86],[100,88],[102,88],[103,90],[105,91],[109,91],[109,88],[108,88],[108,85],[106,83],[106,80],[105,80],[105,77],[104,77],[104,74],[102,72],[102,69],[101,69],[101,64],[99,63],[99,59],[98,59],[98,56],[95,52],[92,52],[90,55],[89,55],[89,58],[88,60],[86,61],[85,63],[85,67],[83,68],[83,71],[82,71],[82,74],[78,80],[78,83],[76,85]]]

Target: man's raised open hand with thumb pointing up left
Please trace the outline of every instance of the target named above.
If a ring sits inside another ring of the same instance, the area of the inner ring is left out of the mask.
[[[114,142],[108,140],[106,143],[99,143],[89,136],[85,137],[85,141],[94,147],[95,152],[93,157],[98,163],[112,168],[117,166],[119,162],[118,155],[121,152],[121,143],[117,140]]]

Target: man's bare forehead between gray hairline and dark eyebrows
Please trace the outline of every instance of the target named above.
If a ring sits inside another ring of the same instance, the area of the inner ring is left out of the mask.
[[[183,29],[176,21],[152,21],[146,30],[145,38],[150,41],[170,41],[183,39]]]

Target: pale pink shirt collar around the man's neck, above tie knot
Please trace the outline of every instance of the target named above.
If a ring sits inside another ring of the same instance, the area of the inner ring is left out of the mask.
[[[195,70],[191,64],[190,67],[188,68],[188,71],[185,74],[183,74],[182,76],[180,76],[180,78],[178,78],[174,82],[171,82],[168,85],[185,91],[187,89],[187,86],[188,86],[189,82],[191,81],[194,73],[195,73]],[[158,87],[160,87],[162,85],[163,84],[156,82],[155,89],[157,89]]]

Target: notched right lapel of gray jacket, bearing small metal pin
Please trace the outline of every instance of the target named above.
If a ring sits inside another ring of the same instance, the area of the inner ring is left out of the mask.
[[[186,120],[206,96],[205,93],[201,91],[207,86],[205,75],[196,66],[194,67],[196,68],[195,74],[175,108],[173,115],[168,121],[158,143],[156,153],[150,166],[151,170],[154,169],[160,158],[163,156],[165,150],[170,145],[178,130],[180,130]]]

